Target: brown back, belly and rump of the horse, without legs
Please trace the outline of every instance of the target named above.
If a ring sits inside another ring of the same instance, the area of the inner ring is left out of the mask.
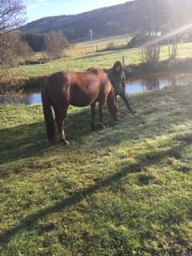
[[[90,68],[86,72],[58,72],[46,82],[51,101],[56,105],[88,106],[106,98],[111,85],[102,69]]]

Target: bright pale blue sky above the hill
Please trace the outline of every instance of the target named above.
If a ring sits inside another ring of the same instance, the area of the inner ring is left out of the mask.
[[[104,6],[113,6],[127,0],[23,0],[26,22],[47,16],[80,14]]]

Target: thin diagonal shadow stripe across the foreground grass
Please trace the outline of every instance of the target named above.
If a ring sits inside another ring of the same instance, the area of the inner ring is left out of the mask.
[[[153,165],[163,158],[169,157],[179,157],[178,152],[183,150],[186,146],[189,146],[192,143],[192,136],[188,135],[183,138],[179,138],[181,144],[179,146],[174,146],[169,150],[158,151],[151,154],[144,154],[142,158],[138,159],[137,163],[130,164],[126,168],[118,171],[117,173],[111,175],[109,178],[103,179],[102,181],[96,182],[93,186],[86,187],[82,190],[74,192],[73,195],[64,199],[62,202],[55,204],[54,206],[46,207],[45,209],[38,210],[38,212],[34,214],[30,214],[26,218],[22,218],[17,226],[10,228],[9,230],[5,230],[0,234],[0,241],[3,244],[6,244],[10,241],[10,239],[17,234],[21,230],[30,230],[40,219],[45,218],[48,214],[54,214],[60,210],[64,210],[68,206],[72,206],[81,202],[83,198],[86,196],[90,196],[91,194],[96,193],[101,188],[106,188],[109,186],[114,186],[115,183],[119,182],[119,180],[125,177],[127,174],[133,172],[139,172],[143,167]],[[174,138],[173,138],[174,139]],[[178,140],[178,138],[175,138]]]

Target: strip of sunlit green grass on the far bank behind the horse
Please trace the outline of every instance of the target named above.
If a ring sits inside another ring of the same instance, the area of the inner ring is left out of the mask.
[[[58,70],[86,70],[90,66],[101,66],[109,68],[117,59],[122,60],[122,56],[126,57],[130,63],[136,63],[139,60],[138,51],[114,50],[102,53],[92,53],[86,55],[77,55],[76,57],[66,57],[46,64],[34,66],[20,66],[10,70],[10,73],[16,74],[21,78],[31,78],[52,74]],[[129,58],[128,58],[129,56]]]

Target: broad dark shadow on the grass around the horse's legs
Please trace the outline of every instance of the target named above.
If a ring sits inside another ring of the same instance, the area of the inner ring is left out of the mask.
[[[110,118],[108,111],[105,111],[105,122],[109,127],[114,125],[114,122]],[[122,119],[130,118],[130,126],[139,126],[139,124],[145,123],[145,116],[136,115],[135,117],[130,117],[126,113],[126,110],[123,110],[123,117],[120,118],[120,122],[123,122]],[[158,120],[157,120],[158,121]],[[131,122],[133,122],[131,124]],[[178,121],[180,123],[180,121]],[[177,122],[174,120],[174,124]],[[163,122],[161,122],[163,125]],[[150,130],[153,130],[157,126],[157,123],[154,122],[150,124]],[[167,126],[167,123],[165,123]],[[105,148],[108,146],[118,145],[118,143],[123,140],[137,139],[141,133],[141,130],[132,130],[129,134],[128,127],[124,127],[121,131],[118,130],[118,127],[115,129],[106,130],[103,134],[100,134],[97,138],[93,138],[93,142],[89,142],[90,146],[94,148]],[[86,138],[87,135],[93,133],[90,129],[90,108],[81,109],[78,112],[70,113],[66,117],[65,122],[65,131],[66,137],[75,145],[79,146],[81,144],[82,138]],[[97,131],[96,131],[97,132]],[[58,134],[58,133],[57,133]],[[149,134],[147,137],[149,137]],[[131,136],[131,137],[130,137]],[[152,133],[153,137],[154,134]],[[59,142],[55,147],[60,147],[62,144]],[[95,144],[96,142],[96,144]],[[30,158],[33,156],[41,155],[45,150],[53,150],[53,146],[47,142],[46,138],[46,129],[43,121],[35,122],[32,124],[25,124],[21,126],[11,127],[8,129],[0,130],[0,165],[6,162],[17,161],[22,158]],[[63,148],[63,150],[66,150]]]

